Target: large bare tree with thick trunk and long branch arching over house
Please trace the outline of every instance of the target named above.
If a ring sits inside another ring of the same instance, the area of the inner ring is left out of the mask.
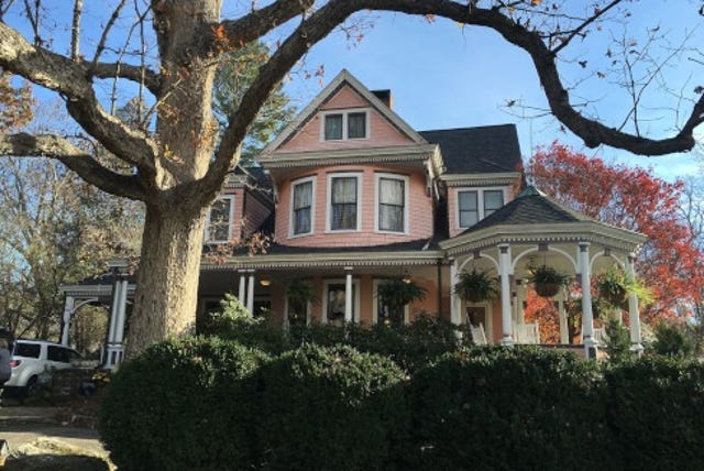
[[[620,15],[624,0],[596,0],[580,8],[539,0],[274,0],[264,7],[228,2],[228,10],[221,0],[116,0],[92,41],[79,29],[84,21],[97,22],[86,20],[79,0],[66,28],[46,29],[55,28],[66,10],[58,3],[0,2],[6,19],[0,23],[0,66],[58,94],[82,132],[127,167],[116,171],[57,134],[4,135],[0,153],[59,160],[105,191],[144,201],[132,353],[193,327],[206,208],[238,162],[246,131],[272,90],[314,44],[356,12],[395,11],[496,31],[530,56],[551,112],[588,146],[606,144],[642,155],[685,152],[704,120],[701,94],[691,97],[692,109],[681,128],[664,139],[624,132],[573,105],[558,61],[572,43]],[[132,25],[119,30],[128,20]],[[151,30],[145,28],[150,23]],[[70,32],[65,41],[59,41],[62,31]],[[219,58],[274,33],[282,41],[220,131],[211,110]],[[95,45],[90,55],[80,50],[84,44]],[[153,106],[143,110],[142,125],[129,125],[106,110],[106,79],[132,83],[136,94],[151,96]]]

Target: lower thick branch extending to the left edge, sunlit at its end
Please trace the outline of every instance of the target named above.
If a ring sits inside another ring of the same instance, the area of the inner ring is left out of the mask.
[[[145,193],[136,176],[123,175],[106,168],[90,154],[57,135],[28,133],[1,135],[0,155],[56,158],[103,191],[130,199],[145,199]]]

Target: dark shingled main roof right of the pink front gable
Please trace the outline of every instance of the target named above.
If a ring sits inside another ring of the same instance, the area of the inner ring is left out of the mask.
[[[514,124],[420,131],[426,141],[440,144],[449,174],[516,172],[520,164]]]

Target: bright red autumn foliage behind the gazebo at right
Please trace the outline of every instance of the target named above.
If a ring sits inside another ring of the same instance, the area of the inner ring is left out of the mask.
[[[638,166],[610,165],[557,142],[535,154],[527,173],[564,205],[648,237],[636,265],[653,293],[654,302],[642,309],[647,319],[701,300],[704,254],[679,218],[682,182],[670,184]]]

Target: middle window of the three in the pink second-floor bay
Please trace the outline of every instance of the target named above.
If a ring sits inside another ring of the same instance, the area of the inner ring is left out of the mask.
[[[355,231],[360,229],[359,174],[331,175],[329,178],[329,218],[331,231]]]

